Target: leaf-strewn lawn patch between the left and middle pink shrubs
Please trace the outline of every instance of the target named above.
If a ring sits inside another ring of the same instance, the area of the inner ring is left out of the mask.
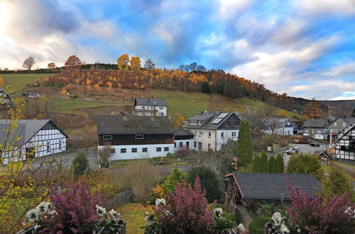
[[[152,206],[144,207],[141,204],[129,203],[119,206],[115,211],[121,213],[121,218],[127,223],[127,233],[143,233],[145,213],[153,213]]]

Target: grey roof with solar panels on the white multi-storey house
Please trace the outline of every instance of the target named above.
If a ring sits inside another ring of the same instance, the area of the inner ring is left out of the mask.
[[[224,118],[222,118],[222,121],[219,121],[219,123],[212,123],[216,118],[224,114]],[[182,126],[182,128],[200,128],[200,129],[217,129],[219,126],[226,121],[227,118],[229,118],[231,115],[235,114],[237,118],[241,119],[239,115],[235,112],[221,112],[221,113],[199,113],[196,116],[193,116],[192,118],[189,118],[187,122]],[[202,125],[191,125],[190,121],[194,120],[201,120],[201,121],[207,121],[203,123]]]

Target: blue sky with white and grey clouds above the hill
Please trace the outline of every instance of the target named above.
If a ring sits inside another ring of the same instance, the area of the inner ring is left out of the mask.
[[[197,62],[307,99],[355,99],[355,0],[0,0],[0,68]],[[143,63],[142,62],[142,63]]]

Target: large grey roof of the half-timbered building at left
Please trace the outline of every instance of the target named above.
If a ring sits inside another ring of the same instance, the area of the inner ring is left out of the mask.
[[[11,124],[14,123],[11,119],[0,119],[0,141],[1,144],[9,142],[9,139],[21,138],[16,141],[16,145],[23,145],[31,140],[33,135],[37,133],[43,126],[45,126],[48,122],[53,123],[50,119],[20,119],[17,122],[17,127],[11,133],[9,130],[11,128]],[[58,128],[58,126],[53,123],[53,125]],[[58,128],[66,137],[67,135]]]

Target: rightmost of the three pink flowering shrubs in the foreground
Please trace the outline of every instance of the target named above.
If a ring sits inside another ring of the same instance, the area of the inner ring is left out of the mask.
[[[291,188],[288,180],[287,183],[291,204],[285,209],[302,233],[354,233],[355,203],[347,200],[347,192],[322,203],[320,196],[310,199],[307,192]]]

